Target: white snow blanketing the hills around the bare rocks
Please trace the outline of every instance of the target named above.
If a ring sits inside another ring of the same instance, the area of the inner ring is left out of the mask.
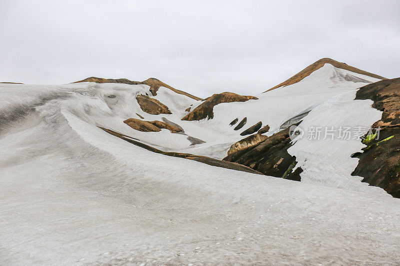
[[[222,158],[248,126],[273,132],[311,106],[303,127],[369,126],[380,113],[352,100],[365,83],[343,80],[349,73],[376,81],[326,64],[202,121],[180,120],[201,102],[162,87],[154,98],[170,115],[140,109],[145,85],[0,84],[0,265],[400,264],[400,201],[350,177],[359,140],[297,141],[289,153],[304,172],[294,182],[155,154],[97,127]],[[136,113],[206,143],[122,123]],[[228,126],[245,116],[242,130]]]

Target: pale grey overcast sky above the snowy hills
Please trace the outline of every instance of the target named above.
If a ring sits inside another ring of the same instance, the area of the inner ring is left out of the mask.
[[[0,0],[0,81],[257,94],[322,57],[400,76],[399,0]]]

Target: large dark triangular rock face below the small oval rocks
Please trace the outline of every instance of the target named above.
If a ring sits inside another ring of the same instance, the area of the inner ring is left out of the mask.
[[[292,172],[297,162],[287,153],[290,146],[287,128],[253,146],[232,152],[223,160],[248,166],[267,176],[299,181],[302,170],[297,168]]]

